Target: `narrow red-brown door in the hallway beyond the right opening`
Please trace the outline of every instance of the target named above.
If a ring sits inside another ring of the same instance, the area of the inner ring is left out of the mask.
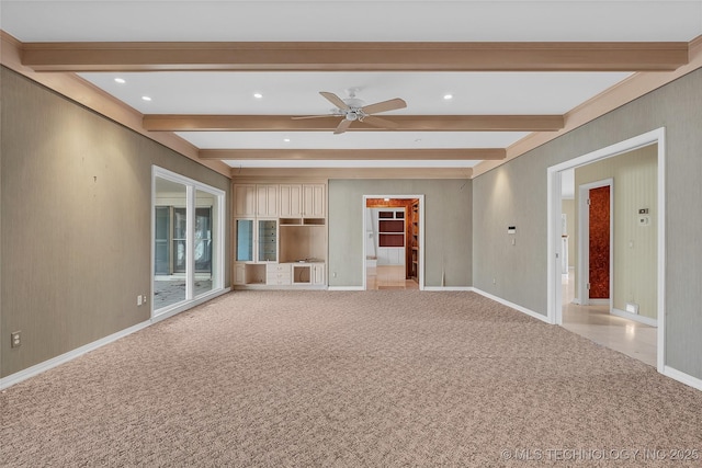
[[[610,186],[590,190],[590,299],[610,297]]]

